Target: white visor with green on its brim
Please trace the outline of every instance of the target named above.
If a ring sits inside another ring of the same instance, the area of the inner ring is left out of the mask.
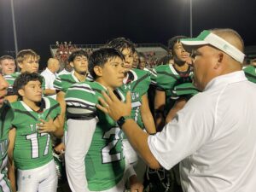
[[[224,53],[230,55],[233,59],[241,63],[245,57],[241,50],[237,49],[234,45],[208,30],[201,32],[197,38],[183,38],[181,39],[181,43],[186,46],[201,46],[211,44],[213,47],[224,51]]]

